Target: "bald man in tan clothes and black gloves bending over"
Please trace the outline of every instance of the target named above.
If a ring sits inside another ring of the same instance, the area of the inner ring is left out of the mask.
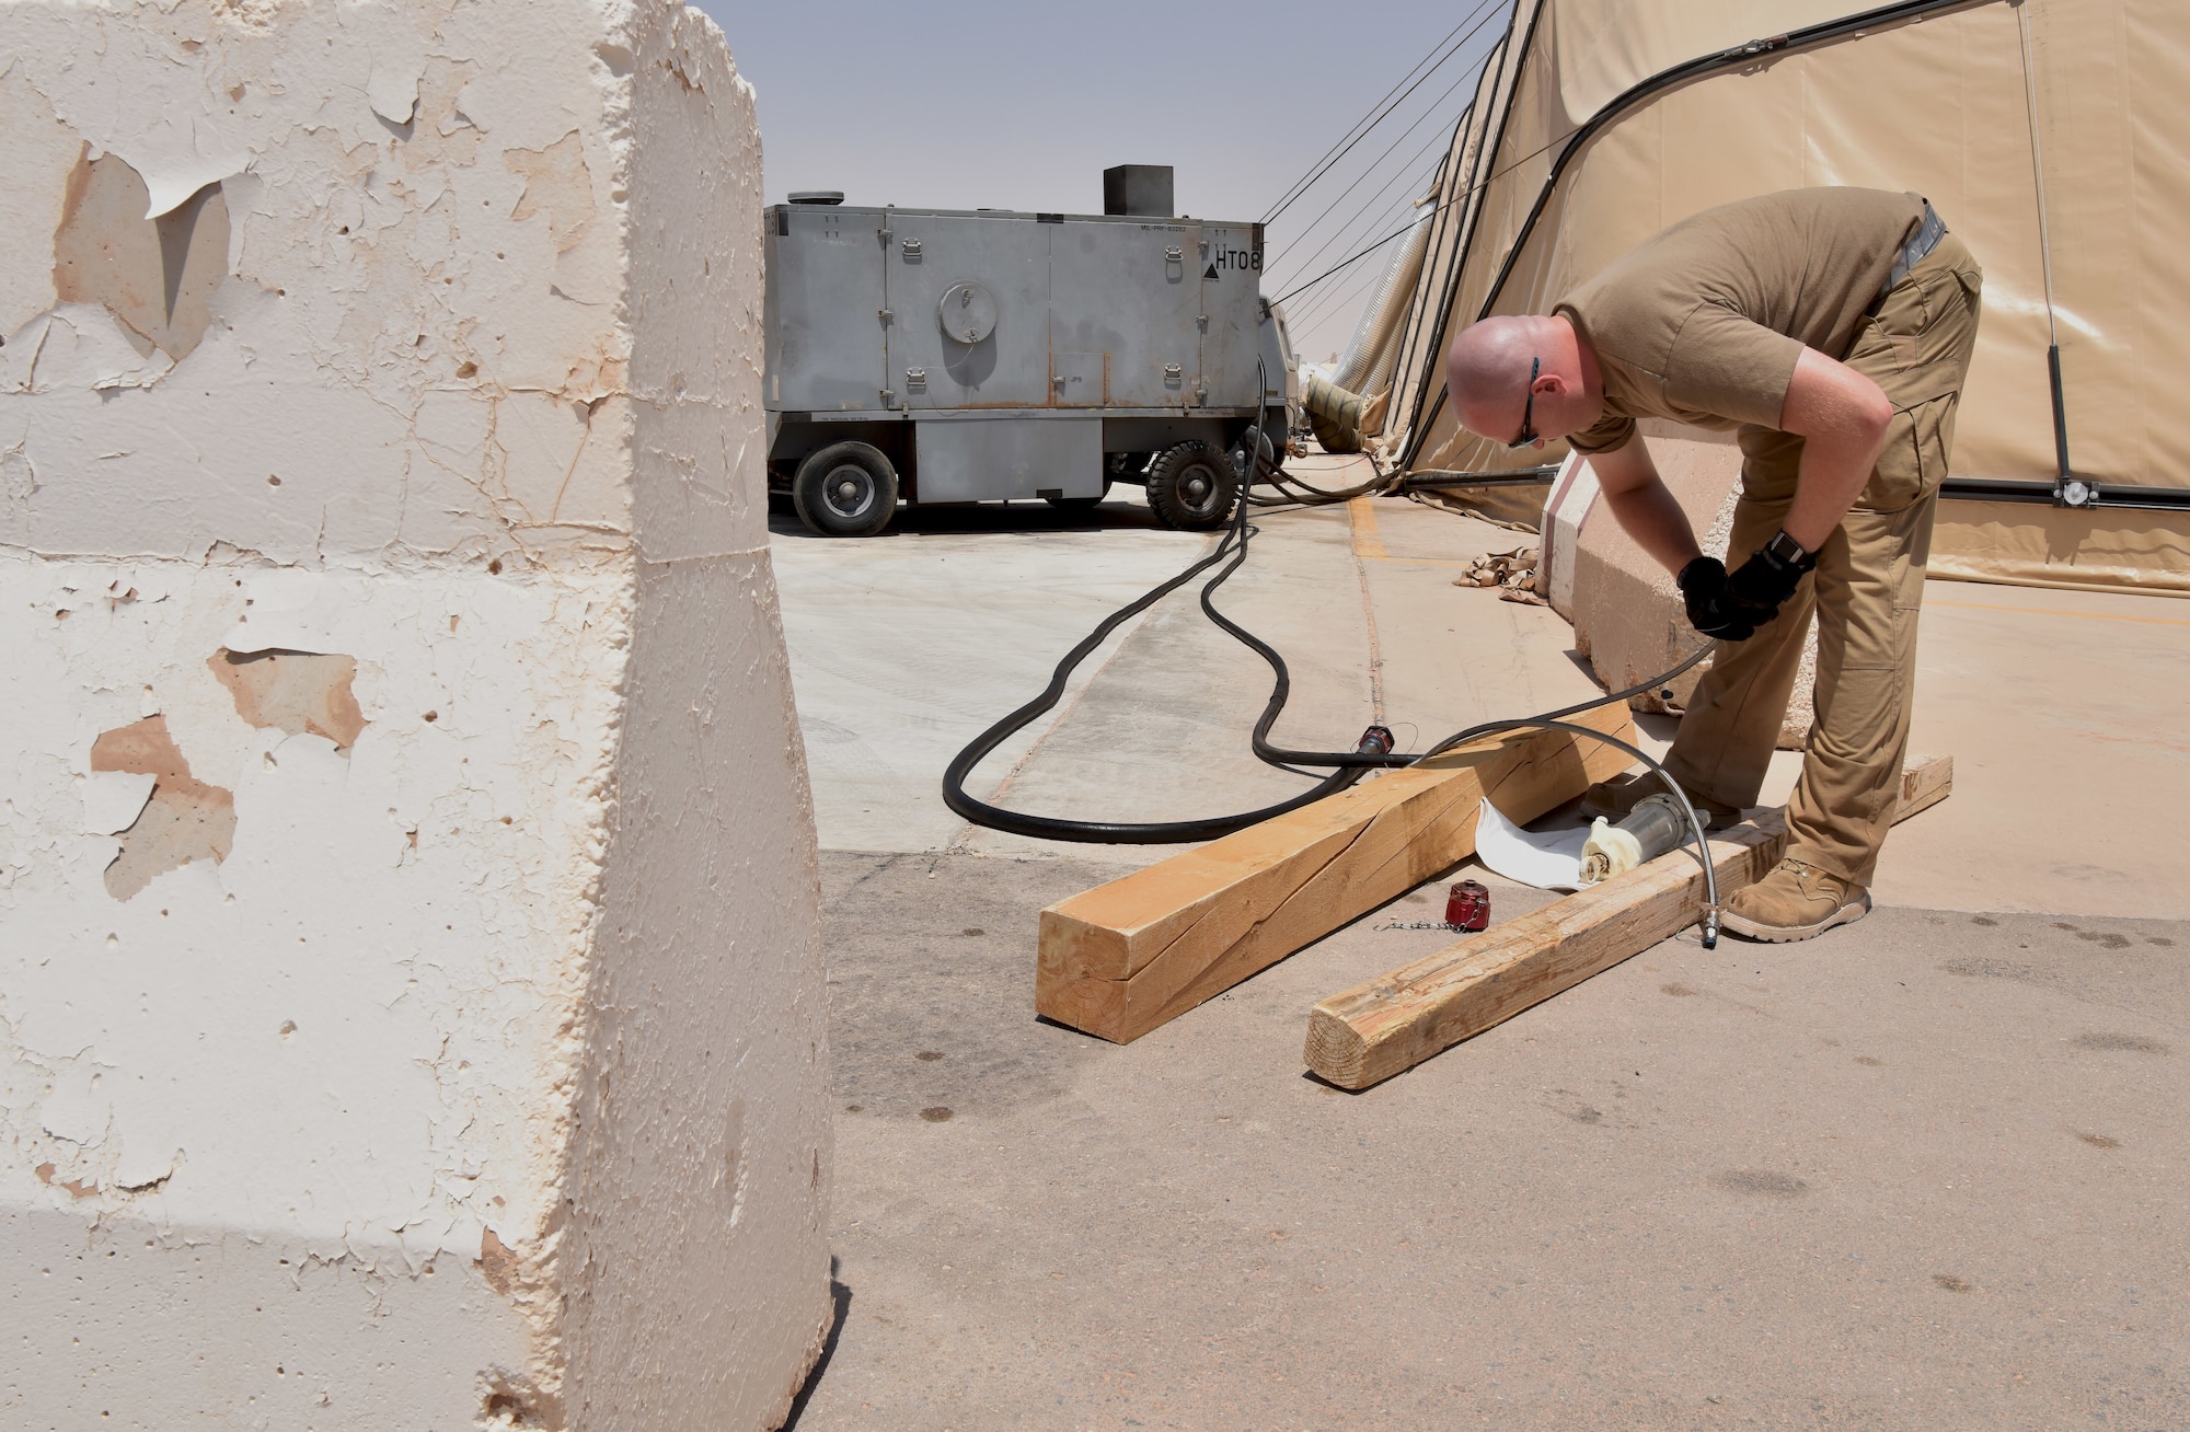
[[[1726,825],[1756,801],[1818,617],[1816,723],[1787,801],[1787,858],[1726,928],[1809,939],[1870,911],[1899,793],[1916,609],[1982,272],[1918,195],[1798,188],[1704,210],[1632,250],[1551,315],[1452,344],[1472,431],[1588,455],[1618,523],[1678,574],[1721,642],[1667,769]],[[1704,556],[1636,418],[1741,429],[1732,574]],[[1621,817],[1647,773],[1590,786]]]

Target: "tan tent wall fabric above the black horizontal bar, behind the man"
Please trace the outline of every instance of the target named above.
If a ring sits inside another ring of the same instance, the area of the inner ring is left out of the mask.
[[[2153,0],[2135,0],[2144,4]],[[2170,317],[2179,302],[2155,302],[2179,291],[2168,282],[2155,236],[2190,223],[2183,193],[2190,166],[2175,160],[2175,136],[2159,123],[2164,105],[2142,85],[2122,85],[2120,74],[2129,66],[2129,20],[2142,26],[2140,63],[2157,70],[2148,81],[2153,92],[2166,92],[2157,85],[2181,92],[2190,83],[2190,72],[2177,77],[2168,68],[2183,66],[2190,46],[2181,22],[2144,18],[2135,7],[2030,0],[2037,72],[2052,77],[2041,88],[2039,114],[2056,230],[2063,370],[2080,473],[2102,484],[2181,486],[2190,482],[2190,451],[2183,451],[2190,434],[2168,425],[2170,405],[2144,401],[2144,390],[2186,372],[2177,348],[2190,344],[2190,324]],[[1507,145],[1485,186],[1445,333],[1476,315],[1505,261],[1505,245],[1548,166],[1557,138],[1548,127],[1586,118],[1546,94],[1555,79],[1548,57],[1577,9],[1590,4],[1559,0],[1546,13],[1548,44],[1537,46],[1535,63],[1522,66]],[[1629,4],[1623,13],[1647,18],[1656,9]],[[2094,99],[2091,90],[2107,96]],[[2137,99],[2126,99],[2129,90]],[[2129,120],[2133,103],[2151,109],[2144,125]],[[2153,158],[2131,166],[2142,134],[2153,134],[2142,140]],[[1496,309],[1546,311],[1566,287],[1664,223],[1748,193],[1805,184],[1914,188],[1971,243],[1986,267],[1986,317],[1964,392],[1956,473],[2048,480],[2043,272],[2021,44],[2006,4],[1765,59],[1647,103],[1568,171]],[[2063,212],[2076,221],[2063,226]],[[2159,333],[2166,361],[2140,357],[2151,342],[2140,324]],[[1430,377],[1434,392],[1441,374]],[[1424,438],[1410,466],[1507,464],[1500,444],[1459,431],[1445,412],[1434,414]]]

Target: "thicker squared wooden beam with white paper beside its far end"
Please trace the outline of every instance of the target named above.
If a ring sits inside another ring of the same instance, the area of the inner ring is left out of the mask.
[[[1575,720],[1634,740],[1627,707]],[[1469,856],[1483,797],[1533,821],[1627,764],[1566,731],[1511,731],[1099,885],[1042,911],[1034,1007],[1137,1040]]]

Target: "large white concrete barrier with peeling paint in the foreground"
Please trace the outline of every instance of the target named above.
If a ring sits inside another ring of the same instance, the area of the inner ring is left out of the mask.
[[[760,140],[659,0],[0,7],[7,1425],[773,1428]]]

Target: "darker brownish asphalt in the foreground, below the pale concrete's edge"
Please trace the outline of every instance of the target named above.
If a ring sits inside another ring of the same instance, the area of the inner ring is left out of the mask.
[[[1307,1009],[1421,896],[1113,1047],[1031,1009],[1106,874],[823,858],[802,1432],[2190,1425],[2190,922],[1691,933],[1347,1095]]]

